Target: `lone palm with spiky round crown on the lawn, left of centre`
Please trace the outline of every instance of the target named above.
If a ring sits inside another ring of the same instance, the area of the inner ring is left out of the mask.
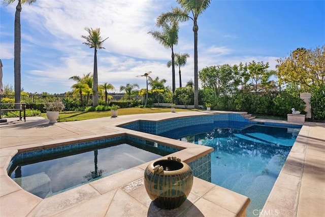
[[[94,49],[94,58],[93,58],[93,86],[92,86],[92,105],[97,106],[98,105],[98,71],[97,71],[97,50],[105,49],[102,47],[105,40],[108,39],[108,37],[105,40],[102,40],[101,37],[101,29],[96,28],[88,28],[85,27],[85,30],[89,33],[89,35],[81,35],[83,39],[86,40],[86,42],[83,42],[82,44],[87,45],[89,48]]]

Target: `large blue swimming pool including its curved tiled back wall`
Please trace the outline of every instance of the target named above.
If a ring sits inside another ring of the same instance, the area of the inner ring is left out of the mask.
[[[259,123],[239,115],[227,116],[218,116],[218,121],[214,121],[215,117],[203,118],[192,124],[181,119],[185,126],[171,130],[164,126],[172,121],[178,125],[177,120],[142,122],[138,130],[214,148],[209,181],[249,197],[247,216],[251,216],[254,209],[263,208],[301,125]]]

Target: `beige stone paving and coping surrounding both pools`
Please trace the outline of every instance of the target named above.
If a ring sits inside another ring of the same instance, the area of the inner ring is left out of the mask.
[[[137,120],[158,121],[176,117],[211,115],[214,113],[227,112],[179,112],[179,113],[156,113],[119,116],[117,118],[100,118],[76,122],[60,122],[54,125],[48,124],[48,120],[40,117],[27,117],[26,122],[13,121],[13,124],[0,125],[0,215],[18,216],[29,215],[69,215],[86,213],[93,216],[115,216],[115,215],[137,215],[156,216],[168,215],[165,210],[159,210],[151,204],[142,182],[143,170],[146,164],[125,170],[118,175],[109,176],[92,184],[86,184],[70,191],[58,194],[54,199],[38,198],[20,189],[18,185],[8,178],[5,168],[7,168],[11,157],[17,150],[40,149],[43,146],[52,146],[60,142],[70,142],[77,139],[93,139],[93,137],[111,136],[119,133],[130,133],[145,136],[146,139],[160,139],[164,142],[181,141],[161,138],[155,135],[134,132],[123,128],[118,128],[126,122]],[[229,112],[231,113],[231,112]],[[10,121],[8,119],[8,121]],[[285,121],[254,119],[254,121],[285,123]],[[325,124],[306,122],[300,131],[297,141],[290,152],[288,159],[281,170],[274,188],[262,210],[261,216],[321,216],[325,210],[324,192],[324,143]],[[202,150],[197,145],[187,151],[182,150],[180,158],[184,161],[196,158]],[[208,150],[204,150],[206,152]],[[125,173],[125,174],[124,174]],[[118,178],[120,176],[121,180]],[[126,178],[130,176],[129,178]],[[105,180],[104,180],[105,179]],[[103,180],[103,181],[101,181]],[[109,185],[108,185],[109,183]],[[114,184],[115,183],[115,184]],[[15,184],[15,183],[14,183]],[[103,187],[104,186],[104,187]],[[110,191],[109,187],[112,187]],[[128,186],[140,186],[130,192]],[[107,192],[108,191],[108,192]],[[83,192],[83,193],[81,193]],[[104,193],[105,192],[105,193]],[[222,193],[221,193],[222,192]],[[220,200],[220,194],[222,200]],[[229,194],[226,197],[224,194]],[[100,199],[101,198],[101,199]],[[102,200],[105,200],[102,201]],[[62,203],[65,201],[64,203]],[[238,203],[236,207],[232,204]],[[191,216],[215,216],[215,213],[223,213],[223,216],[235,216],[244,214],[242,208],[248,205],[247,198],[229,190],[215,186],[202,179],[194,178],[194,186],[188,200],[178,209],[172,210],[172,215],[184,215],[191,213]],[[220,202],[220,204],[216,204]],[[56,204],[56,206],[54,205]],[[94,213],[91,206],[96,204],[98,212]],[[20,207],[19,210],[15,207]],[[99,207],[97,207],[99,206]],[[184,206],[184,207],[183,207]],[[63,207],[57,210],[58,207]],[[241,207],[241,208],[239,208]],[[245,207],[246,208],[246,207]],[[53,210],[54,209],[54,210]],[[19,211],[24,210],[23,213]],[[52,211],[51,211],[52,210]],[[236,214],[235,214],[236,213]]]

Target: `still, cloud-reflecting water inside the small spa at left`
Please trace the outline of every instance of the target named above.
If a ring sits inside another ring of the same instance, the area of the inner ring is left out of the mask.
[[[63,157],[62,153],[56,157],[48,154],[43,159],[14,162],[11,168],[15,169],[9,175],[26,191],[46,198],[170,153],[154,149],[149,152],[142,144],[127,141],[73,155],[69,152]]]

